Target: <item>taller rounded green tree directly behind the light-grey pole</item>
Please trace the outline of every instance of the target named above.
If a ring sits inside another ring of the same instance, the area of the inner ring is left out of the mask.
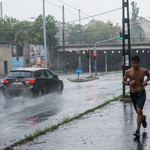
[[[56,20],[53,16],[48,15],[45,18],[46,23],[46,42],[49,46],[57,46],[58,38],[56,38],[56,34],[59,31],[56,26]],[[39,15],[35,21],[30,25],[28,29],[29,35],[29,43],[31,44],[44,44],[44,36],[43,36],[43,16]]]

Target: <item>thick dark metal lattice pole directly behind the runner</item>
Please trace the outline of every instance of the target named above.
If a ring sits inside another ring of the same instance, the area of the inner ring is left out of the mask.
[[[126,10],[126,11],[125,11]],[[127,13],[125,15],[125,12]],[[126,16],[126,17],[125,17]],[[123,62],[123,77],[125,75],[125,70],[131,68],[131,58],[130,58],[130,25],[129,25],[129,2],[128,0],[122,1],[122,33],[123,33],[123,53],[122,53],[122,62]],[[127,25],[127,31],[125,32],[125,25]],[[125,49],[125,41],[127,41],[128,49]],[[128,64],[126,64],[128,62]],[[125,85],[123,85],[123,98],[125,98]]]

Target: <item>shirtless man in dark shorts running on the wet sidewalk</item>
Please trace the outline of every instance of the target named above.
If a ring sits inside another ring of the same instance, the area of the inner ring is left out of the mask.
[[[137,129],[133,135],[140,136],[141,123],[144,128],[147,127],[146,116],[143,115],[143,107],[146,100],[145,87],[150,80],[150,75],[147,69],[139,67],[140,58],[135,55],[131,58],[132,68],[128,69],[123,78],[123,84],[130,86],[130,97],[137,113]],[[147,79],[144,81],[144,76]],[[129,81],[127,79],[129,78]]]

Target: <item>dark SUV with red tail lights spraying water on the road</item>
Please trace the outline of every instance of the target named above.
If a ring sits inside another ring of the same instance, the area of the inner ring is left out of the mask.
[[[44,94],[63,91],[63,81],[58,75],[45,68],[18,68],[10,71],[3,79],[3,95],[6,100],[13,97],[39,97]]]

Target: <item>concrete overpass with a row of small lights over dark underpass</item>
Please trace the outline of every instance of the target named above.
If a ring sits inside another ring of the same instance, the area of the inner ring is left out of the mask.
[[[81,66],[88,71],[88,59],[85,57],[86,50],[94,50],[94,45],[74,45],[65,46],[65,61],[67,69],[76,69]],[[126,47],[128,49],[128,47]],[[97,50],[97,69],[105,71],[105,56],[107,55],[108,71],[122,69],[122,44],[101,43],[96,46]],[[131,44],[131,56],[141,57],[141,66],[150,70],[150,43]],[[91,54],[91,65],[94,66],[94,58]],[[63,47],[57,48],[57,69],[63,69],[64,52]]]

